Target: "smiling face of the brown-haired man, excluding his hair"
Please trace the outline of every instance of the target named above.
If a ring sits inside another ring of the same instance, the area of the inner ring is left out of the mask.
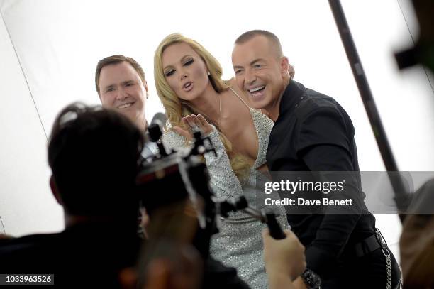
[[[130,63],[106,65],[99,75],[99,96],[103,107],[116,109],[135,124],[145,119],[148,86]]]

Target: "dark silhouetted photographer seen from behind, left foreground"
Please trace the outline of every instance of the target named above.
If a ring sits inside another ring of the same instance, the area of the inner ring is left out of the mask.
[[[48,143],[50,187],[65,230],[0,240],[0,273],[54,274],[56,288],[118,288],[140,241],[134,194],[143,135],[126,117],[71,104]]]

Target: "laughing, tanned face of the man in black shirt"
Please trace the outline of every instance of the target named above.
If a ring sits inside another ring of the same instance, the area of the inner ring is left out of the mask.
[[[250,97],[253,107],[272,109],[285,88],[288,61],[280,58],[265,36],[236,44],[232,52],[235,80]]]

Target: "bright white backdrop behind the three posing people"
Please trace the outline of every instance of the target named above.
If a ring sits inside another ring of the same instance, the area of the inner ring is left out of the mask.
[[[392,55],[417,36],[413,11],[405,0],[342,2],[399,168],[434,170],[433,89],[421,67],[397,72]],[[208,48],[226,78],[233,76],[230,53],[240,33],[276,33],[295,79],[334,97],[350,114],[360,169],[384,170],[327,1],[0,0],[0,12],[0,231],[62,229],[46,160],[55,115],[76,100],[99,103],[94,70],[113,54],[143,66],[148,120],[163,111],[152,61],[160,40],[174,32]],[[376,217],[396,253],[396,216]]]

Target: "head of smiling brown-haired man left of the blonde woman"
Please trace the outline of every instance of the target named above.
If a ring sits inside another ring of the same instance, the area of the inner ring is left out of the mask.
[[[96,65],[95,86],[103,107],[119,111],[145,131],[148,84],[137,61],[123,55],[104,58]]]

